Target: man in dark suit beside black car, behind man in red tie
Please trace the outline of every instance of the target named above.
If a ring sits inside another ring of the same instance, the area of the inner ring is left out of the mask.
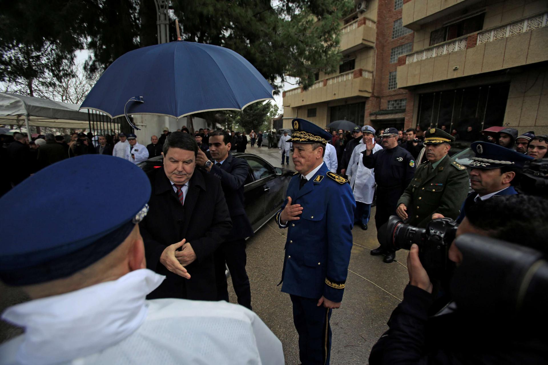
[[[225,262],[229,266],[232,285],[238,303],[251,309],[251,290],[246,273],[246,237],[253,236],[253,228],[244,210],[243,186],[249,171],[246,160],[234,158],[230,154],[230,136],[226,132],[214,131],[209,135],[209,152],[214,161],[198,152],[197,165],[206,166],[209,174],[218,178],[225,192],[229,206],[232,230],[226,242],[215,253],[217,289],[219,300],[229,300],[225,276]]]

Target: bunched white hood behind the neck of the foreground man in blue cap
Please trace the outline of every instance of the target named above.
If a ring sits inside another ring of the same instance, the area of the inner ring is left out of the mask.
[[[16,359],[38,365],[65,362],[122,341],[141,326],[146,295],[164,279],[140,269],[117,280],[8,308],[3,320],[25,328]]]

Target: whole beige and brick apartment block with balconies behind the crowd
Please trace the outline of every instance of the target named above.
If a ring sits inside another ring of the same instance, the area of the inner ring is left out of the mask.
[[[546,0],[370,0],[341,20],[339,72],[283,92],[295,117],[374,128],[548,133]]]

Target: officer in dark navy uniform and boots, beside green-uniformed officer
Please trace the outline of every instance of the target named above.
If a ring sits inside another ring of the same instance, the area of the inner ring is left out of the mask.
[[[383,150],[372,153],[373,144],[366,144],[363,153],[363,165],[375,169],[377,184],[377,205],[375,226],[377,234],[383,230],[381,225],[388,222],[390,216],[396,215],[398,199],[415,175],[415,160],[407,149],[398,146],[398,130],[386,128],[380,135]],[[370,252],[372,255],[385,254],[383,261],[391,263],[396,257],[394,251],[384,251],[382,247]]]

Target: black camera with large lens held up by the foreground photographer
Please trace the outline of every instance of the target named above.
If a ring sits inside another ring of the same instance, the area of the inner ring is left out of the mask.
[[[426,228],[417,228],[403,223],[397,216],[391,216],[386,227],[386,239],[381,240],[381,246],[387,251],[397,251],[418,245],[419,259],[428,275],[433,279],[442,279],[454,268],[447,254],[458,227],[451,218],[434,219]]]

